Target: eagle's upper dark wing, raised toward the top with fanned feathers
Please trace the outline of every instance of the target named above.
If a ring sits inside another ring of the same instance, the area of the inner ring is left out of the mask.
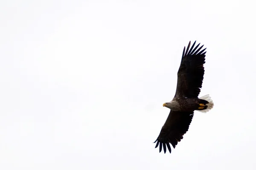
[[[199,45],[200,43],[194,48],[194,42],[192,47],[189,49],[189,41],[187,49],[185,47],[183,49],[180,68],[177,73],[178,79],[175,97],[198,97],[201,91],[200,88],[202,88],[202,83],[204,79],[204,63],[206,53],[204,52],[204,50],[206,48],[201,50],[204,45],[198,48]]]

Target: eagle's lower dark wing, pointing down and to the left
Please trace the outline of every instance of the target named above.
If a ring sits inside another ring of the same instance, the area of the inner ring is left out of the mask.
[[[192,121],[194,112],[179,112],[170,111],[169,116],[163,125],[159,136],[157,137],[156,147],[159,145],[159,152],[163,151],[166,153],[166,146],[171,153],[170,143],[175,148],[178,142],[183,139],[183,135],[189,130],[189,125]],[[154,142],[154,143],[155,143]]]

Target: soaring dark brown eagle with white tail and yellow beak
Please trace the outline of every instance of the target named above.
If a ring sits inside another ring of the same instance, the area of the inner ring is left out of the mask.
[[[189,130],[194,111],[206,113],[214,106],[209,94],[198,98],[204,79],[206,48],[201,50],[204,45],[198,48],[200,43],[194,48],[195,42],[190,49],[190,41],[187,48],[184,47],[177,72],[175,96],[171,102],[163,104],[163,107],[170,109],[170,113],[155,141],[157,142],[155,148],[159,146],[159,152],[163,148],[166,153],[166,146],[169,152],[172,152],[170,144],[175,148],[183,139],[183,135]]]

